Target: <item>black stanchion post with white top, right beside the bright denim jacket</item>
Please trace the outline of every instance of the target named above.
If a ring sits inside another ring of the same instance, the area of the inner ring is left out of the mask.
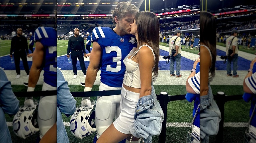
[[[158,136],[158,142],[159,143],[165,143],[166,141],[166,120],[167,120],[167,105],[168,105],[168,93],[166,92],[160,92],[160,100],[159,104],[163,110],[163,124],[162,124],[162,131],[161,134]]]

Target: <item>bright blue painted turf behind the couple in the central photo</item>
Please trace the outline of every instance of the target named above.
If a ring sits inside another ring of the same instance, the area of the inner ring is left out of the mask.
[[[169,55],[169,52],[160,49],[160,55]],[[86,68],[89,65],[89,61],[85,61]],[[181,70],[191,70],[193,68],[194,61],[181,57]],[[62,70],[72,70],[72,63],[68,63],[67,56],[60,56],[57,58],[57,66]],[[81,70],[80,63],[77,61],[77,70]],[[159,61],[159,70],[170,70],[170,63],[166,64],[166,61]],[[176,70],[176,63],[174,64],[174,70]]]

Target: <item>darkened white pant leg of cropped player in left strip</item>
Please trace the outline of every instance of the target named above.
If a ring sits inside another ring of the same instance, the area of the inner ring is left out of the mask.
[[[57,96],[43,96],[38,106],[38,126],[40,129],[40,138],[57,121]]]

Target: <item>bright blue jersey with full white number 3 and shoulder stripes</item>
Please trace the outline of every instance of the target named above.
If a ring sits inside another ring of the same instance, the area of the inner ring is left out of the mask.
[[[92,31],[92,41],[101,47],[100,81],[111,87],[122,87],[125,65],[124,58],[137,47],[134,35],[117,35],[109,27],[96,27]]]

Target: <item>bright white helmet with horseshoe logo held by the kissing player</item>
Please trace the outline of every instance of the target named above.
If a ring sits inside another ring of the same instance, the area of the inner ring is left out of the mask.
[[[94,106],[95,100],[92,100],[91,104]],[[83,139],[96,131],[94,121],[95,110],[93,108],[90,109],[88,106],[80,107],[78,106],[75,113],[71,116],[69,127],[75,137]]]

